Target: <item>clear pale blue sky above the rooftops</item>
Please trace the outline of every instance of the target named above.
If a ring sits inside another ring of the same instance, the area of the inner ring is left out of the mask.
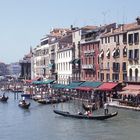
[[[140,0],[0,0],[0,62],[18,62],[52,28],[135,22]]]

